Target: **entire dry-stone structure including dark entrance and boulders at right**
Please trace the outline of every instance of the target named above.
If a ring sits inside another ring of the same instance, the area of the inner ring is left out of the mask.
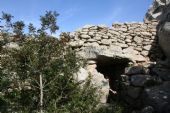
[[[119,95],[130,113],[170,112],[168,4],[155,0],[144,22],[86,25],[68,34],[72,48],[88,60],[85,70],[105,92],[102,103]]]

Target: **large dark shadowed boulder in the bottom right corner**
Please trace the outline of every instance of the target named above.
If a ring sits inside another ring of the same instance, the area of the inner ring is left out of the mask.
[[[152,106],[156,113],[170,113],[170,82],[146,88],[142,98],[143,104]]]

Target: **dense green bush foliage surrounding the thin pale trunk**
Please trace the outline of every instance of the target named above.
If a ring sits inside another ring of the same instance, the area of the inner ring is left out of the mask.
[[[32,39],[23,42],[20,49],[6,50],[6,54],[2,58],[0,79],[4,112],[40,109],[39,75],[43,78],[44,111],[90,113],[95,110],[96,88],[89,81],[82,88],[74,80],[74,73],[81,66],[80,59],[60,40]]]

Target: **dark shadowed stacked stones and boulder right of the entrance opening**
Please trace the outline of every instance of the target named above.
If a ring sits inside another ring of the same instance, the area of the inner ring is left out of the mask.
[[[142,66],[127,67],[125,73],[121,75],[124,84],[122,100],[134,108],[144,107],[139,113],[169,113],[170,81],[167,76],[169,70],[160,71],[164,71],[162,76],[166,76],[167,81],[163,81],[160,76],[151,75],[148,69]]]

